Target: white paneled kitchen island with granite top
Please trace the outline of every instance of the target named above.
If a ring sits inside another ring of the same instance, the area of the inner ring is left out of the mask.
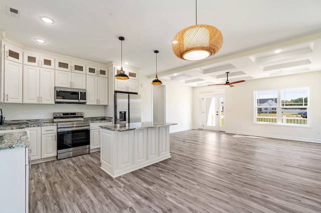
[[[135,122],[101,127],[101,169],[112,177],[171,157],[169,122]]]

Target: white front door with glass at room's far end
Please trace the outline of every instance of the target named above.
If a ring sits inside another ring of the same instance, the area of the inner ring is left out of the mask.
[[[222,130],[222,97],[219,97],[217,94],[199,96],[198,112],[198,128],[217,131]]]

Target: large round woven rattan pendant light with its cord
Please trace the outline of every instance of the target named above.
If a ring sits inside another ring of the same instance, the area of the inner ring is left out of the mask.
[[[217,53],[223,45],[222,32],[212,25],[197,24],[179,31],[172,40],[174,54],[184,60],[202,60]]]

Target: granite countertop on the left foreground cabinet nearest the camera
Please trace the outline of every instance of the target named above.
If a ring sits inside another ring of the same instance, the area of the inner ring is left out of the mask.
[[[29,146],[29,137],[26,131],[0,133],[0,150]]]

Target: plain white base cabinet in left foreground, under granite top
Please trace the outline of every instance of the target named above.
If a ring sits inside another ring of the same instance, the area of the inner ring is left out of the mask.
[[[0,150],[1,212],[29,211],[28,147]]]

